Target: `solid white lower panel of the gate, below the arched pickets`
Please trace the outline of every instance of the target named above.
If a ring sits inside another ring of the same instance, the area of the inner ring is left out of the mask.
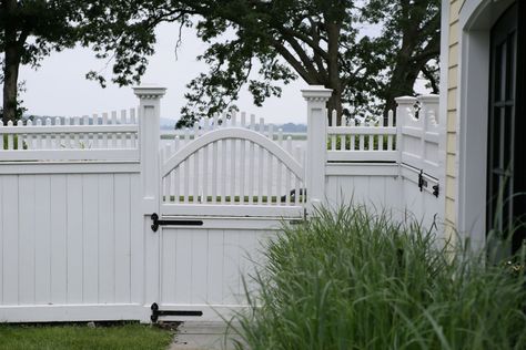
[[[280,222],[209,218],[200,228],[162,228],[161,290],[163,310],[199,310],[202,316],[163,319],[219,319],[246,306],[254,267]],[[220,312],[220,313],[218,313]]]

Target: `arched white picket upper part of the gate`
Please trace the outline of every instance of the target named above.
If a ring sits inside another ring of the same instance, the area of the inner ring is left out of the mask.
[[[303,154],[301,147],[292,150],[291,136],[283,138],[281,128],[265,130],[263,119],[256,124],[251,115],[246,123],[245,113],[240,121],[233,114],[221,124],[218,115],[211,125],[196,122],[163,150],[164,207],[178,213],[230,210],[233,216],[254,215],[254,206],[300,207],[305,200]]]

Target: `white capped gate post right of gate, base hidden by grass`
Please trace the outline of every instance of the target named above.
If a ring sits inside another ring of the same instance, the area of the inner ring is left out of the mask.
[[[307,189],[307,210],[325,202],[325,163],[327,157],[327,113],[326,102],[331,89],[311,85],[302,90],[307,102],[307,146],[305,185]]]

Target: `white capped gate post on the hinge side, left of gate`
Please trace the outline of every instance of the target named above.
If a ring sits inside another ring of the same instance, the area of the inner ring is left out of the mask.
[[[159,158],[159,120],[161,116],[161,97],[166,89],[140,86],[133,87],[139,97],[139,147],[141,148],[141,197],[144,231],[144,316],[150,321],[150,306],[159,302],[160,237],[151,230],[151,215],[159,212],[161,195],[160,158]]]

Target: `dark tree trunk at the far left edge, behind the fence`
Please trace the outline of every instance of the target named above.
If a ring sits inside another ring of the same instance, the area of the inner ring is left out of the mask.
[[[4,124],[17,120],[18,73],[21,59],[20,43],[17,41],[17,23],[11,18],[16,11],[17,1],[2,1],[2,10],[7,19],[4,34],[4,68],[3,68],[3,116]]]

